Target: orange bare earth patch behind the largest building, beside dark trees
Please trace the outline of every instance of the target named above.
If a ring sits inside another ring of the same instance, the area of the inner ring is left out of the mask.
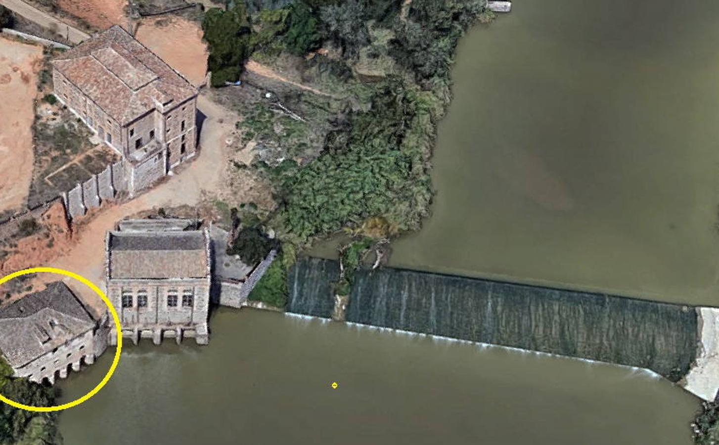
[[[207,72],[207,47],[196,22],[166,16],[143,19],[135,38],[162,60],[199,86]]]

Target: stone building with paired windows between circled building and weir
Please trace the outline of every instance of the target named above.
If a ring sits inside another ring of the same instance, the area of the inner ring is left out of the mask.
[[[207,230],[153,220],[121,224],[106,237],[106,282],[123,336],[135,343],[183,336],[207,344],[210,241]],[[183,220],[174,220],[183,221]],[[186,230],[187,229],[187,230]],[[116,343],[111,332],[110,342]]]

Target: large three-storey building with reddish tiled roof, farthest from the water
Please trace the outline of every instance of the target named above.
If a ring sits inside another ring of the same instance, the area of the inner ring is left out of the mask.
[[[52,68],[55,96],[122,155],[131,194],[195,155],[197,88],[121,27]]]

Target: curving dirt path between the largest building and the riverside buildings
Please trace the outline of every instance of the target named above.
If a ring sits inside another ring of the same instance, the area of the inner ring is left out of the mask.
[[[157,185],[151,191],[120,205],[101,207],[94,216],[75,227],[74,247],[67,254],[55,258],[49,264],[79,273],[88,280],[104,287],[104,240],[105,233],[117,221],[140,211],[175,206],[196,206],[204,196],[214,196],[224,184],[218,174],[226,163],[224,140],[232,132],[237,116],[209,101],[198,97],[198,109],[207,116],[200,135],[201,153],[186,168]],[[83,286],[73,289],[83,295],[95,308],[101,308],[101,301]]]

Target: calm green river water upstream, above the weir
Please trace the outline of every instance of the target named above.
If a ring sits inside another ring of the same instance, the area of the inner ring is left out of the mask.
[[[718,20],[717,1],[521,0],[472,29],[432,216],[390,265],[719,306]]]

